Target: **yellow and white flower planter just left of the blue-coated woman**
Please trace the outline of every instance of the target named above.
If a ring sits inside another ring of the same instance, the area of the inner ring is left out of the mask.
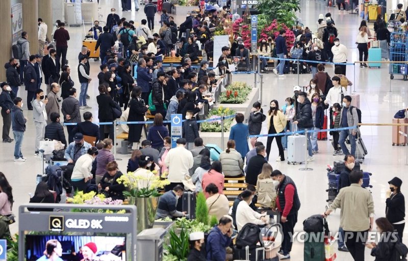
[[[208,118],[216,119],[216,118],[220,118],[220,116],[229,116],[229,115],[234,115],[235,113],[236,113],[235,110],[219,106],[217,109],[210,110],[208,114]],[[229,131],[231,129],[231,125],[233,121],[234,119],[232,118],[224,120],[224,130],[223,131]],[[201,123],[200,131],[201,132],[221,132],[221,120]]]

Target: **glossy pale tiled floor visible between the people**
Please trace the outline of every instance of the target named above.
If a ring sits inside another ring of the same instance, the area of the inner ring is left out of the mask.
[[[114,2],[114,3],[113,3]],[[108,3],[108,4],[107,4]],[[348,61],[352,62],[358,60],[358,50],[354,45],[358,28],[360,24],[360,17],[358,15],[351,15],[346,12],[338,12],[337,8],[327,8],[323,1],[301,1],[301,13],[303,24],[309,26],[313,31],[316,30],[316,20],[320,13],[331,12],[333,19],[336,22],[336,27],[339,31],[339,38],[341,42],[348,47],[349,55]],[[120,1],[100,0],[100,13],[103,14],[104,19],[111,7],[119,8]],[[140,21],[145,18],[142,9],[139,12],[123,12],[119,15],[125,16],[128,19]],[[180,24],[184,21],[184,15],[176,17],[176,22]],[[160,20],[160,16],[156,16],[156,23]],[[157,30],[159,25],[157,24]],[[370,23],[372,27],[372,23]],[[90,27],[90,26],[87,26]],[[75,87],[79,87],[78,73],[77,73],[77,59],[81,48],[81,40],[84,35],[83,27],[66,27],[70,33],[71,40],[68,45],[68,60],[72,68],[71,74],[75,81]],[[91,75],[96,79],[99,72],[97,62],[90,61]],[[329,67],[329,66],[328,66]],[[327,68],[329,75],[333,75],[333,69]],[[354,75],[355,72],[355,75]],[[368,69],[353,66],[347,67],[347,77],[354,83],[352,90],[361,96],[361,110],[363,123],[391,123],[394,113],[408,106],[407,88],[408,84],[401,80],[401,77],[396,76],[390,82],[388,73],[388,66],[383,65],[381,69]],[[307,85],[311,78],[311,74],[302,74],[299,77],[300,85]],[[355,81],[354,81],[355,79]],[[234,80],[247,81],[253,85],[253,75],[235,75]],[[270,100],[276,99],[281,104],[285,98],[292,97],[293,85],[298,84],[297,75],[289,75],[285,79],[278,79],[274,74],[264,74],[263,85],[263,103],[268,104]],[[389,92],[391,86],[391,92]],[[23,89],[23,88],[21,88]],[[93,80],[90,84],[88,94],[91,99],[88,100],[89,106],[92,106],[92,113],[94,119],[97,119],[97,104],[95,97],[97,93],[97,81]],[[23,97],[24,103],[26,94],[22,91],[19,96]],[[35,129],[33,124],[32,111],[27,111],[24,106],[24,115],[29,118],[27,124],[27,131],[25,132],[22,152],[28,158],[25,163],[13,162],[14,143],[0,143],[0,171],[4,172],[9,179],[14,190],[14,212],[17,212],[19,205],[29,201],[29,192],[35,190],[35,179],[38,173],[41,173],[41,161],[36,158],[34,154],[34,137]],[[265,108],[266,109],[266,108]],[[387,181],[394,176],[398,176],[403,182],[408,182],[404,177],[408,170],[407,153],[408,147],[394,147],[391,142],[391,127],[362,127],[362,136],[368,149],[368,155],[362,165],[364,171],[373,173],[371,189],[375,202],[376,217],[385,215],[385,192],[388,188]],[[266,126],[263,128],[263,133],[266,133]],[[266,139],[261,138],[261,141]],[[329,141],[319,141],[319,154],[315,156],[315,160],[309,163],[309,167],[313,171],[300,171],[299,165],[288,165],[286,162],[273,161],[277,155],[277,148],[273,143],[273,150],[271,154],[271,164],[273,168],[281,170],[286,175],[290,176],[296,183],[299,197],[301,200],[301,208],[299,211],[298,222],[295,231],[302,231],[302,221],[313,214],[319,214],[324,211],[326,205],[327,188],[326,165],[333,164],[334,160],[341,160],[342,157],[331,156],[332,148]],[[127,159],[129,156],[117,154],[117,157],[123,159],[119,161],[119,166],[125,169]],[[404,192],[404,186],[402,191]],[[337,231],[339,225],[339,213],[333,213],[328,218],[329,227],[333,231]],[[17,225],[11,225],[12,232],[17,231]],[[405,237],[406,238],[406,237]],[[303,246],[300,243],[294,243],[292,251],[292,260],[302,260]],[[369,256],[369,251],[366,250],[366,260],[373,260]],[[351,257],[347,253],[338,253],[338,260],[350,260]]]

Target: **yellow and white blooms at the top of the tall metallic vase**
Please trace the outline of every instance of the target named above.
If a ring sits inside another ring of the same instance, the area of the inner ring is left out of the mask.
[[[117,182],[126,187],[127,190],[123,191],[126,197],[157,197],[160,196],[158,189],[170,184],[168,180],[160,180],[158,176],[146,179],[130,171],[117,179]]]

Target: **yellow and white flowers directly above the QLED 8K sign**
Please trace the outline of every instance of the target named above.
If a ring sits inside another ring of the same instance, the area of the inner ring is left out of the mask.
[[[95,191],[84,193],[78,191],[73,197],[67,199],[68,203],[72,204],[86,204],[86,205],[122,205],[123,200],[112,200],[111,197],[106,197],[104,194],[96,194]],[[111,210],[74,210],[74,212],[98,212],[98,213],[118,213],[124,214],[124,210],[111,211]]]

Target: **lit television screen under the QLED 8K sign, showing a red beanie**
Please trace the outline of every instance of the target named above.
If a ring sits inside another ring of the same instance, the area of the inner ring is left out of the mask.
[[[126,236],[25,235],[25,260],[126,261]],[[61,259],[60,259],[61,258]]]

